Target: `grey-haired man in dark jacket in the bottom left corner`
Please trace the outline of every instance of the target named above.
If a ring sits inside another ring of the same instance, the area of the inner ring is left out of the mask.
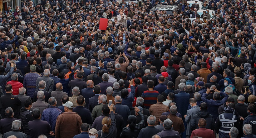
[[[9,138],[9,137],[11,137],[11,138],[16,138],[16,136],[18,137],[18,138],[27,138],[27,134],[25,134],[25,133],[22,133],[20,130],[21,130],[21,126],[22,124],[21,124],[21,121],[20,120],[14,120],[13,122],[12,122],[12,131],[9,131],[9,132],[7,132],[7,133],[4,133],[3,134],[3,138]],[[14,136],[14,137],[12,137],[12,136]]]

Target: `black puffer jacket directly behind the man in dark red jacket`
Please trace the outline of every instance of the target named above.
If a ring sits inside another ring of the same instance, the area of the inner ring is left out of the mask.
[[[214,121],[213,116],[211,114],[209,114],[209,112],[207,110],[201,110],[201,111],[197,112],[197,114],[194,115],[190,120],[191,121],[191,123],[190,123],[191,131],[199,128],[197,124],[198,124],[198,121],[200,118],[204,118],[206,120],[205,128],[214,130],[215,121]]]

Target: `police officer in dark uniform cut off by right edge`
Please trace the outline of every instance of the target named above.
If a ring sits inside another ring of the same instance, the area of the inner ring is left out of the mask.
[[[256,134],[256,107],[253,104],[249,104],[248,108],[247,108],[247,113],[248,113],[248,117],[244,118],[244,124],[250,124],[253,127],[253,134]]]

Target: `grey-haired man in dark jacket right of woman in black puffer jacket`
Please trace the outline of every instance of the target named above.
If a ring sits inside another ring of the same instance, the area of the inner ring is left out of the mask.
[[[141,55],[141,54],[140,54]],[[154,136],[155,134],[159,133],[160,130],[158,128],[155,128],[155,122],[156,122],[156,118],[153,115],[150,115],[147,118],[147,124],[148,126],[145,128],[142,128],[140,130],[140,133],[138,135],[138,137],[140,138],[149,138]]]

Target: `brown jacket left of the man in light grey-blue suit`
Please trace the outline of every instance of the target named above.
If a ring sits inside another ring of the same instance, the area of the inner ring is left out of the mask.
[[[173,122],[173,130],[178,131],[179,133],[185,131],[181,118],[177,117],[175,114],[169,114],[167,117]]]

